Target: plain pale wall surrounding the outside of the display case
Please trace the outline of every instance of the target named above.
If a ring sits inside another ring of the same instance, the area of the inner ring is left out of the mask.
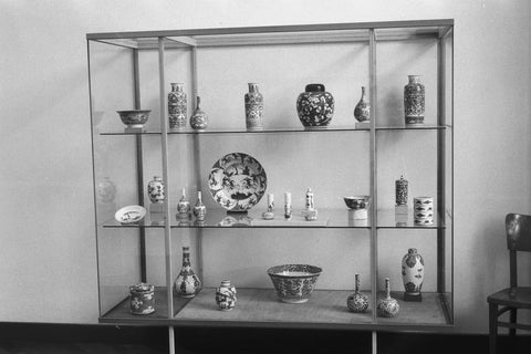
[[[456,21],[456,331],[485,333],[486,296],[508,285],[504,216],[531,214],[525,0],[0,2],[0,321],[97,322],[86,33],[441,18]]]

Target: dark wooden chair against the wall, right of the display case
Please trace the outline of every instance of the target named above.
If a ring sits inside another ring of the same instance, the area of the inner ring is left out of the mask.
[[[507,248],[509,249],[510,288],[490,294],[489,303],[489,353],[496,354],[498,327],[509,329],[516,340],[517,330],[531,331],[530,324],[517,322],[517,310],[531,310],[531,288],[518,287],[517,251],[531,252],[531,216],[508,214],[506,216]],[[501,306],[501,308],[499,308]],[[509,322],[499,316],[509,311]]]

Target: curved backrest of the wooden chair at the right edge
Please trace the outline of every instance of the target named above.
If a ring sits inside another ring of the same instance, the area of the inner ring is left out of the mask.
[[[507,248],[511,288],[518,287],[517,251],[531,252],[531,216],[508,214],[506,216]]]

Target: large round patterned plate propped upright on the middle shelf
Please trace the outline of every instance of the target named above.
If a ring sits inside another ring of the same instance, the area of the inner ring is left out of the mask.
[[[231,153],[214,164],[208,176],[214,200],[229,211],[247,211],[266,192],[268,179],[262,165],[252,156]]]

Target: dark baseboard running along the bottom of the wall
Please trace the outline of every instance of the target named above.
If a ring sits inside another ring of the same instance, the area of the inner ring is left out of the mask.
[[[317,331],[257,327],[176,327],[180,353],[372,353],[369,331]],[[0,323],[0,342],[104,342],[166,346],[165,326],[116,326],[104,324]],[[378,354],[488,353],[487,334],[438,334],[378,332]],[[528,353],[531,335],[511,341],[499,335],[499,353]],[[523,348],[527,348],[525,351]],[[226,351],[225,351],[226,350]],[[177,353],[179,353],[177,351]]]

